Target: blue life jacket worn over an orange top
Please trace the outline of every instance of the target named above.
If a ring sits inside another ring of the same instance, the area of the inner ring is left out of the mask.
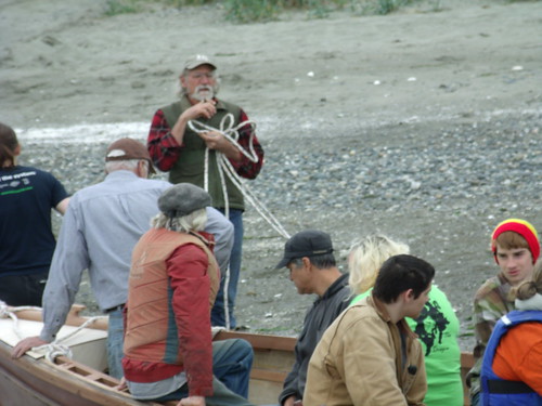
[[[521,381],[506,381],[493,371],[493,359],[501,338],[512,327],[528,322],[542,323],[542,311],[512,311],[496,323],[486,348],[481,366],[482,406],[542,406],[542,396]]]

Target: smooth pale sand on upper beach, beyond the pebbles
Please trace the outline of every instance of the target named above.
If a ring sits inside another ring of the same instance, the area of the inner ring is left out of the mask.
[[[219,8],[104,17],[104,1],[0,4],[0,114],[21,128],[147,121],[193,53],[216,58],[224,99],[294,129],[540,106],[541,2],[254,25],[225,23]]]

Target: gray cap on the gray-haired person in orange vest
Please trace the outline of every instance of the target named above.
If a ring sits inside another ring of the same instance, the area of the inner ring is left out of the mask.
[[[168,218],[183,217],[210,206],[210,196],[192,183],[179,183],[158,198],[158,208]]]

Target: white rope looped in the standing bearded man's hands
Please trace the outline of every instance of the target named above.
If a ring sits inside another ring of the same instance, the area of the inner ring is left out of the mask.
[[[219,132],[222,134],[229,142],[231,142],[245,157],[247,157],[251,162],[258,162],[258,155],[254,149],[254,136],[256,123],[251,120],[245,120],[237,126],[234,127],[234,117],[231,113],[228,113],[220,120],[220,128],[216,129],[214,127],[207,126],[197,120],[190,120],[188,122],[189,128],[201,134],[209,131]],[[245,150],[240,143],[237,142],[240,134],[238,131],[245,126],[250,126],[250,137],[248,140],[248,148],[249,150]],[[230,181],[241,191],[243,197],[256,209],[256,211],[260,214],[260,217],[266,220],[281,236],[284,238],[289,238],[289,234],[282,226],[282,224],[276,220],[276,218],[269,211],[269,209],[255,196],[254,192],[243,182],[241,176],[237,174],[235,169],[233,168],[230,160],[225,157],[224,154],[216,150],[215,155],[218,168],[218,174],[220,178],[220,184],[222,186],[222,196],[224,197],[224,214],[227,218],[230,218],[230,202],[228,199],[228,191],[225,186],[225,176],[228,175]],[[204,159],[204,189],[209,192],[209,148],[205,148],[205,159]],[[230,267],[228,266],[224,275],[224,319],[225,319],[225,328],[230,329],[230,312],[228,305],[228,288],[230,286]]]

